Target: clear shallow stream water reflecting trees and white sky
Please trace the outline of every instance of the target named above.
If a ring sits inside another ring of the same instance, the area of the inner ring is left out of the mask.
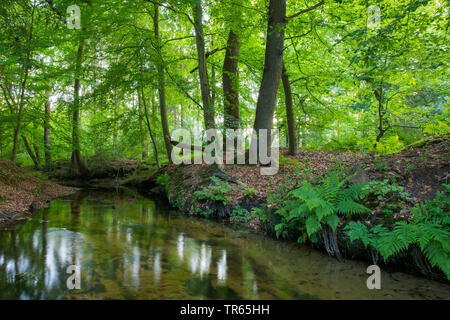
[[[69,265],[81,289],[67,288]],[[0,299],[448,299],[450,286],[339,263],[295,243],[186,217],[130,190],[83,190],[0,230]]]

